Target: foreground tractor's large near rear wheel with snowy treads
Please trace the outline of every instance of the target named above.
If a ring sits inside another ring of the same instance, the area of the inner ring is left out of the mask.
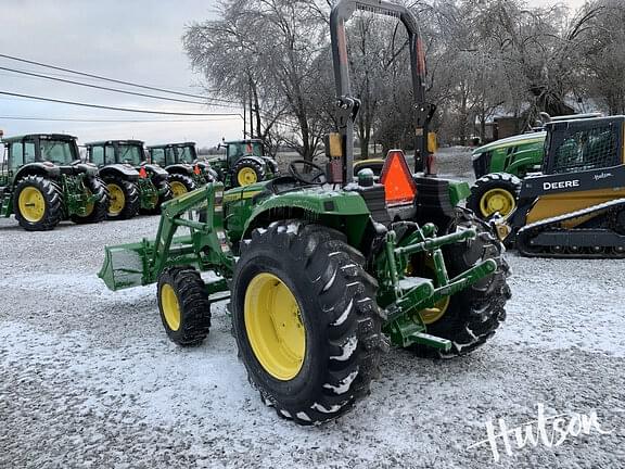
[[[386,342],[378,283],[363,263],[343,233],[299,220],[242,242],[234,337],[250,382],[279,416],[320,423],[369,393]]]

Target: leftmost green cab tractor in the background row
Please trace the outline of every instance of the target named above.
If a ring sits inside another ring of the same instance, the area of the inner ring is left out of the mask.
[[[27,135],[3,140],[0,213],[15,214],[28,231],[52,230],[63,219],[92,224],[106,217],[109,192],[98,168],[80,162],[76,138]]]

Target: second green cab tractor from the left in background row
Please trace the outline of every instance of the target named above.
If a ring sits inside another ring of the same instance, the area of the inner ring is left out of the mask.
[[[130,218],[138,211],[157,214],[161,205],[173,198],[169,174],[148,163],[142,141],[106,140],[86,147],[88,161],[98,164],[109,186],[110,218]]]

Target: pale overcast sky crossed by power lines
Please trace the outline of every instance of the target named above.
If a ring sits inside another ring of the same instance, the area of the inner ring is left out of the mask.
[[[531,0],[530,3],[543,5],[552,2]],[[583,0],[569,0],[566,3],[577,7]],[[190,69],[181,36],[191,22],[214,17],[215,5],[215,0],[0,0],[0,53],[154,87],[202,93],[199,86],[201,77]],[[2,58],[0,67],[118,87]],[[133,90],[150,93],[146,90]],[[0,91],[144,110],[239,112],[116,94],[26,77],[3,69],[0,69]],[[135,138],[148,144],[193,140],[204,147],[216,144],[222,137],[233,139],[242,135],[240,117],[194,123],[38,122],[7,117],[129,121],[191,118],[100,111],[0,94],[0,129],[5,136],[66,132],[77,136],[82,143]]]

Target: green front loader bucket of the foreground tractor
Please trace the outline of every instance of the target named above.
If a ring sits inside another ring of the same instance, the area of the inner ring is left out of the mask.
[[[152,249],[148,241],[105,248],[104,252],[104,265],[98,277],[110,290],[117,291],[150,283],[146,272]]]

